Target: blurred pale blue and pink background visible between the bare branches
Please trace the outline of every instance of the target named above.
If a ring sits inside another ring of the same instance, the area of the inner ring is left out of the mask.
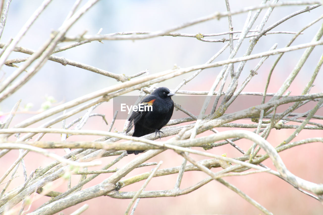
[[[83,1],[84,4],[86,1]],[[2,43],[6,43],[11,37],[16,36],[20,28],[25,24],[26,20],[36,10],[36,8],[42,3],[40,0],[34,1],[12,1],[9,13],[4,28],[3,35],[1,37]],[[258,5],[259,1],[253,0],[230,0],[231,11],[240,10],[246,6]],[[49,37],[52,31],[57,30],[62,22],[65,20],[70,8],[74,4],[74,1],[56,0],[50,3],[46,10],[36,20],[34,25],[28,30],[23,39],[19,42],[18,46],[23,46],[29,49],[37,50],[46,39]],[[298,10],[304,9],[306,5],[298,6],[283,6],[277,7],[273,10],[272,15],[269,17],[265,28],[277,22],[281,18],[294,13]],[[258,25],[265,15],[267,9],[263,9],[259,15],[255,25]],[[135,0],[135,1],[99,1],[94,5],[85,15],[83,15],[77,23],[72,26],[66,36],[78,36],[83,34],[86,30],[89,35],[95,35],[102,28],[101,34],[109,34],[115,32],[125,31],[158,31],[168,29],[172,26],[176,26],[187,21],[194,20],[199,17],[203,17],[214,13],[215,11],[226,11],[225,1],[148,1],[148,0]],[[277,26],[272,31],[293,31],[297,32],[308,23],[317,19],[322,14],[322,6],[300,15],[297,15],[283,24]],[[255,13],[255,12],[253,12]],[[234,30],[242,30],[247,13],[242,13],[232,16],[232,22]],[[308,43],[312,40],[319,27],[322,25],[322,21],[314,24],[306,29],[292,45]],[[253,26],[252,29],[255,29]],[[227,32],[228,19],[226,17],[220,20],[214,19],[207,22],[199,23],[194,26],[180,29],[178,33],[189,34],[211,34]],[[252,54],[264,52],[269,50],[275,43],[278,43],[277,48],[285,47],[286,44],[294,35],[292,34],[270,34],[261,37],[257,42]],[[222,39],[225,36],[214,37],[214,39]],[[246,38],[243,42],[237,57],[243,56],[247,47],[249,46],[250,38]],[[59,46],[67,45],[68,43],[61,43]],[[234,45],[236,40],[234,41]],[[67,59],[78,61],[84,64],[88,64],[93,67],[113,72],[116,74],[133,75],[142,70],[149,69],[149,74],[161,72],[167,69],[177,67],[189,67],[193,65],[204,64],[208,61],[218,50],[220,50],[225,43],[208,43],[197,40],[191,37],[172,37],[172,36],[160,36],[145,40],[111,40],[103,41],[99,43],[93,41],[88,44],[84,44],[72,49],[68,49],[63,52],[54,54],[55,56],[64,56]],[[304,52],[304,49],[285,53],[282,59],[277,64],[271,82],[268,88],[268,92],[276,92],[290,72],[293,70],[298,62],[299,57]],[[317,46],[309,56],[309,59],[301,69],[299,75],[296,77],[292,86],[288,89],[291,90],[290,95],[300,95],[310,76],[312,75],[318,60],[323,53],[323,47]],[[216,61],[225,60],[229,56],[229,48],[227,48],[223,54],[221,54]],[[17,57],[26,57],[23,53],[13,52],[9,59]],[[245,87],[244,91],[263,92],[268,72],[271,65],[276,60],[276,56],[270,56],[264,65],[258,70],[258,74],[253,77],[249,84]],[[249,75],[250,70],[259,62],[259,59],[250,60],[244,67],[239,85]],[[237,68],[238,64],[234,64],[234,68]],[[191,82],[184,85],[182,90],[209,90],[214,82],[215,77],[222,67],[214,67],[203,70],[196,78]],[[0,77],[5,78],[9,76],[15,68],[2,67],[0,71]],[[175,89],[182,79],[190,77],[193,74],[187,73],[185,75],[166,80],[159,83],[157,87],[168,87],[171,90]],[[323,75],[318,74],[314,87],[310,93],[322,92]],[[23,87],[21,87],[11,97],[8,97],[0,103],[0,111],[7,113],[15,105],[15,103],[22,99],[17,116],[12,121],[12,126],[22,120],[42,111],[44,104],[51,101],[48,105],[50,107],[60,104],[62,102],[70,101],[96,90],[102,89],[116,84],[117,81],[110,77],[105,77],[88,70],[80,69],[72,66],[62,66],[59,63],[53,61],[47,61],[46,65]],[[227,85],[226,85],[227,86]],[[226,87],[224,87],[224,91]],[[136,93],[130,93],[130,95],[138,95]],[[176,102],[176,97],[173,97]],[[243,101],[242,101],[243,103]],[[42,106],[43,105],[43,106]],[[237,104],[238,105],[238,104]],[[245,105],[245,104],[244,104]],[[27,106],[27,107],[26,107]],[[201,104],[202,106],[202,104]],[[249,106],[247,106],[249,107]],[[113,117],[112,101],[105,102],[95,109],[94,112],[105,114],[108,122],[110,123]],[[83,116],[84,112],[78,114]],[[77,118],[73,116],[68,118],[67,123]],[[174,117],[173,117],[174,118]],[[319,120],[318,120],[319,121]],[[125,120],[117,120],[114,128],[117,131],[123,129]],[[320,122],[322,123],[322,122]],[[40,123],[38,124],[40,125]],[[10,127],[12,127],[10,126]],[[37,126],[37,125],[35,125]],[[34,126],[33,126],[34,127]],[[60,124],[55,125],[56,128],[61,128]],[[90,118],[84,129],[93,130],[108,130],[109,125],[106,125],[102,118]],[[219,131],[226,130],[227,128],[219,128]],[[254,129],[250,129],[254,130]],[[277,146],[286,139],[292,131],[277,130],[271,132],[267,139],[273,146]],[[295,140],[304,139],[307,137],[322,137],[323,132],[321,130],[302,131]],[[77,140],[79,137],[72,136],[70,140]],[[59,135],[48,134],[45,135],[44,140],[60,140]],[[82,140],[94,140],[95,137],[83,137]],[[13,138],[15,140],[15,138]],[[250,141],[237,141],[244,150],[247,150],[252,142]],[[203,150],[203,149],[201,149]],[[53,150],[57,154],[64,155],[63,150]],[[210,152],[215,154],[227,153],[228,157],[240,156],[239,152],[233,149],[230,145],[226,145],[219,148],[214,148]],[[295,175],[304,178],[306,180],[322,183],[323,175],[320,165],[323,162],[322,159],[323,146],[322,143],[310,143],[280,153],[280,156],[284,160],[287,168]],[[264,152],[260,152],[264,153]],[[37,156],[41,160],[35,160],[33,153],[29,153],[25,162],[27,170],[32,171],[39,166],[46,166],[52,160],[42,156]],[[8,163],[0,165],[0,171],[5,172],[11,165],[14,159],[17,158],[18,152],[11,151],[6,156]],[[130,155],[122,159],[117,167],[126,164],[134,155]],[[205,159],[199,156],[193,156],[195,159]],[[171,159],[170,159],[171,158]],[[104,158],[104,162],[109,162],[112,158]],[[160,155],[149,160],[148,162],[158,162],[163,160],[164,163],[161,169],[180,166],[182,158],[176,153],[167,150]],[[265,165],[272,167],[270,160],[264,162]],[[139,174],[141,172],[150,171],[151,167],[145,167],[132,171],[127,177]],[[29,172],[28,172],[29,174]],[[126,178],[127,178],[126,177]],[[170,175],[164,177],[158,177],[151,180],[146,190],[160,190],[160,189],[172,189],[177,175]],[[206,178],[204,173],[184,173],[181,189],[189,187],[198,181]],[[96,178],[96,182],[100,182],[107,176],[101,174]],[[19,185],[23,181],[23,177],[17,177],[14,179],[10,187]],[[291,185],[285,181],[267,173],[259,173],[248,176],[239,177],[227,177],[226,180],[234,184],[241,189],[247,195],[254,200],[258,201],[261,205],[266,207],[274,214],[322,214],[322,204],[297,191]],[[85,185],[84,188],[93,186],[96,182],[90,182]],[[63,179],[57,180],[54,183],[54,187],[57,185],[57,191],[66,190],[66,181]],[[78,178],[75,177],[72,184],[78,183]],[[121,191],[135,191],[138,190],[144,181],[131,185],[122,189]],[[0,185],[2,188],[2,185]],[[35,210],[42,203],[48,201],[48,197],[37,199],[33,202],[31,211]],[[89,200],[86,203],[90,205],[90,208],[84,212],[84,214],[105,214],[110,212],[111,214],[124,213],[130,200],[118,200],[110,197],[99,197],[93,200]],[[71,213],[79,208],[83,203],[63,210],[64,214]],[[259,214],[259,210],[254,208],[251,204],[247,203],[244,199],[238,196],[233,191],[227,189],[216,181],[211,181],[202,188],[193,191],[187,195],[178,197],[164,197],[164,198],[152,198],[141,199],[135,214]]]

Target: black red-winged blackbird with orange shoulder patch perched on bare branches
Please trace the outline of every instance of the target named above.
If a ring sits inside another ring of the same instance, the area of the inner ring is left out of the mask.
[[[171,93],[166,87],[159,87],[155,89],[149,96],[144,97],[140,104],[149,106],[151,109],[146,109],[146,111],[133,111],[128,124],[126,133],[128,133],[133,126],[135,126],[135,131],[132,134],[132,137],[141,137],[147,134],[157,132],[160,135],[160,129],[164,127],[173,115],[174,102],[172,96],[175,94]],[[138,105],[139,106],[139,105]],[[143,152],[143,150],[137,151],[127,151],[128,154]]]

